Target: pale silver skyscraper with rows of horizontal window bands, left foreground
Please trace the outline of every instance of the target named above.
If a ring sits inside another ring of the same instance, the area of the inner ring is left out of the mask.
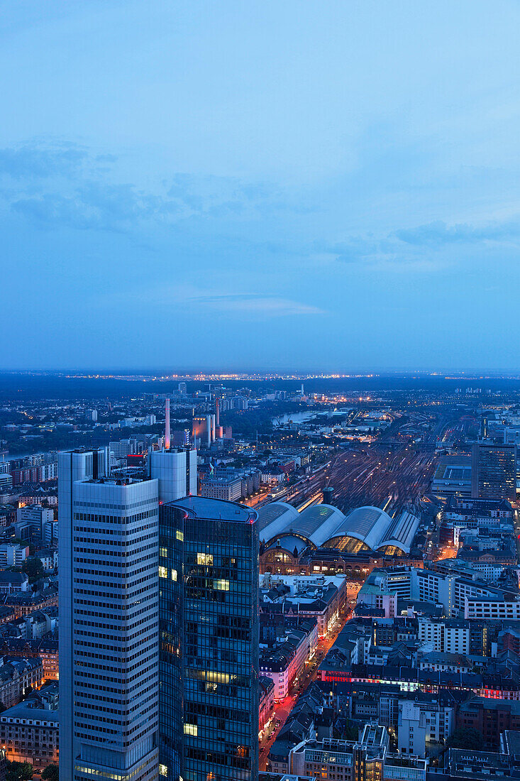
[[[155,781],[158,482],[104,473],[59,455],[60,777]]]

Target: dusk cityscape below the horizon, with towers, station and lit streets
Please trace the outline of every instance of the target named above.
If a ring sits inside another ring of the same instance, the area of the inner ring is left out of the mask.
[[[162,379],[2,399],[0,779],[513,777],[518,378]]]

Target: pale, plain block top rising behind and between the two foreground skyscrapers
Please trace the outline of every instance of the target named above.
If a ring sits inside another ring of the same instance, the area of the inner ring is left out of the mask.
[[[166,503],[197,494],[197,451],[194,448],[151,450],[149,474],[158,480],[158,496]]]

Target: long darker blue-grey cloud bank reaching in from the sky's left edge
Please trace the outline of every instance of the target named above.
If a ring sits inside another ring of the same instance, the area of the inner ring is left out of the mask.
[[[0,194],[39,227],[134,230],[193,217],[240,219],[279,208],[276,188],[237,177],[176,173],[144,191],[117,181],[116,155],[74,144],[0,149]]]

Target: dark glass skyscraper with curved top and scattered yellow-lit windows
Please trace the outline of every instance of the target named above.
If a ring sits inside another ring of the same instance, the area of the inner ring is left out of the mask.
[[[159,778],[258,777],[258,523],[235,502],[159,508]]]

